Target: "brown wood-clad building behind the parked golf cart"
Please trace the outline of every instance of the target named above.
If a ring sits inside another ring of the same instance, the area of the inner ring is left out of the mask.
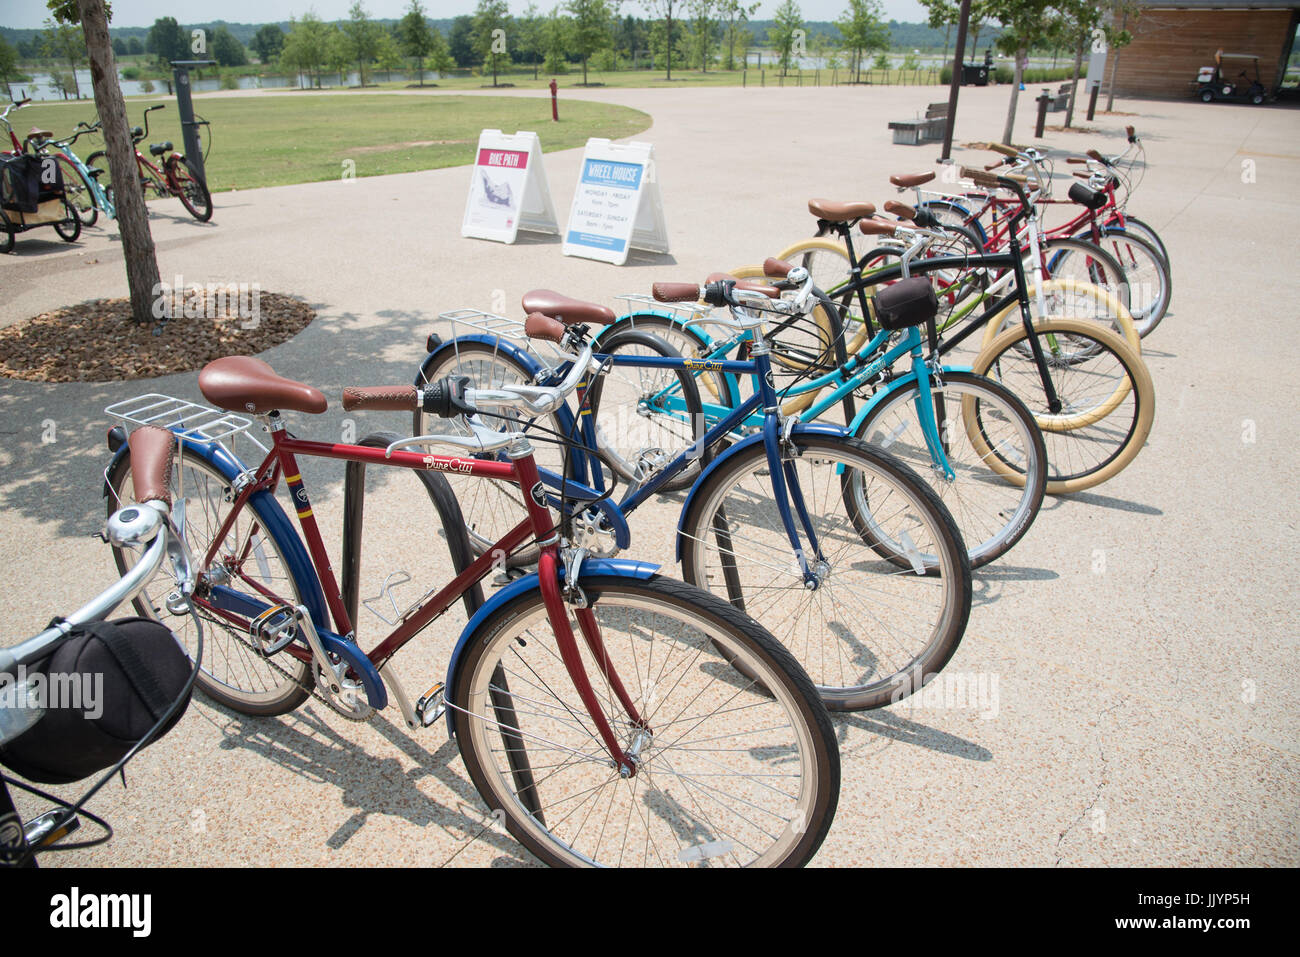
[[[1127,23],[1132,43],[1118,51],[1115,91],[1191,96],[1197,69],[1214,65],[1214,51],[1226,51],[1258,55],[1260,81],[1273,92],[1297,23],[1300,0],[1141,0],[1141,16]]]

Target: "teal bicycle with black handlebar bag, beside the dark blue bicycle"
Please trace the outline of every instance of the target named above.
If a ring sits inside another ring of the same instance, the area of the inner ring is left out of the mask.
[[[909,261],[905,254],[905,273]],[[793,276],[796,282],[805,276],[803,269],[775,259],[764,263],[764,273],[771,278]],[[911,285],[918,307],[933,300],[926,277],[905,277],[902,283]],[[906,298],[902,289],[892,295]],[[820,290],[816,296],[823,321],[814,324],[806,313],[803,329],[788,326],[784,355],[790,360],[786,368],[797,372],[783,384],[781,411],[811,423],[842,408],[854,438],[901,458],[930,481],[961,531],[972,568],[1004,555],[1028,532],[1046,489],[1046,447],[1034,415],[1002,384],[975,374],[970,367],[941,365],[922,337],[922,325],[933,337],[932,317],[898,328],[897,319],[887,325],[875,316],[879,330],[874,335],[852,355],[837,352],[837,346],[842,350],[838,311]],[[748,352],[753,338],[740,332],[711,339],[697,328],[707,309],[692,306],[688,312],[694,315],[653,308],[625,315],[602,330],[598,348],[616,355],[619,343],[627,341],[624,333],[632,329],[670,342],[694,363],[701,408],[711,426],[744,402],[744,377],[722,369],[728,358]],[[623,394],[634,397],[642,416],[686,416],[688,399],[676,377],[618,363],[610,376],[624,382]],[[866,399],[861,408],[855,408],[855,397]],[[733,429],[733,437],[760,425],[762,415],[754,413]],[[671,432],[664,425],[655,434]],[[625,434],[604,430],[602,442],[618,446]],[[608,460],[637,459],[636,451],[618,451]]]

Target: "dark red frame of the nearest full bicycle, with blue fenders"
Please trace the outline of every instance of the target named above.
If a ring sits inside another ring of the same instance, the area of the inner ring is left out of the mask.
[[[393,655],[396,654],[403,645],[411,641],[411,638],[413,638],[430,622],[442,615],[454,602],[460,599],[467,592],[474,588],[474,585],[482,581],[497,567],[502,554],[508,554],[529,538],[536,538],[541,545],[541,557],[537,572],[524,579],[519,579],[511,583],[511,586],[497,592],[493,598],[471,618],[471,622],[462,633],[460,641],[452,651],[451,661],[448,662],[446,687],[452,687],[463,648],[477,623],[502,602],[510,601],[521,592],[537,588],[541,590],[551,627],[555,631],[560,657],[568,670],[569,677],[573,681],[575,689],[578,692],[580,698],[586,706],[588,713],[610,753],[610,757],[625,776],[636,774],[636,763],[624,753],[608,719],[603,713],[603,709],[601,707],[595,690],[592,687],[592,681],[582,666],[573,629],[569,627],[568,615],[566,612],[566,597],[563,589],[560,588],[560,579],[563,577],[566,570],[562,567],[562,559],[559,555],[559,529],[551,520],[551,514],[543,505],[542,495],[538,494],[542,477],[540,476],[537,464],[533,460],[530,447],[526,447],[515,458],[507,458],[507,460],[477,458],[465,459],[403,450],[390,451],[361,445],[312,442],[290,436],[285,430],[278,415],[266,416],[266,420],[272,436],[272,447],[256,469],[239,471],[239,475],[246,477],[244,481],[240,482],[237,476],[230,476],[233,485],[238,488],[238,492],[229,514],[213,536],[213,544],[208,547],[207,554],[204,554],[202,559],[195,557],[198,567],[208,568],[217,562],[220,546],[226,541],[237,518],[246,508],[250,508],[255,518],[255,529],[257,525],[264,524],[257,516],[257,508],[254,506],[254,498],[261,493],[273,495],[280,482],[283,481],[294,499],[298,524],[302,529],[302,538],[306,541],[307,547],[307,555],[295,557],[289,554],[286,555],[286,560],[295,566],[295,579],[315,581],[318,584],[324,594],[324,607],[321,607],[318,602],[308,603],[304,601],[312,619],[309,624],[304,622],[304,628],[309,627],[315,632],[315,637],[318,638],[326,653],[337,655],[347,663],[347,666],[361,681],[369,705],[374,709],[382,709],[387,703],[387,692],[380,672]],[[229,452],[225,452],[224,447],[220,445],[195,445],[191,441],[190,447],[198,450],[200,455],[204,455],[205,458],[211,456],[213,464],[217,464],[216,460],[218,458],[225,456],[228,460],[225,471],[233,471],[230,463],[233,463],[234,469],[240,468],[239,463],[234,460]],[[204,449],[207,449],[205,452]],[[330,566],[329,555],[325,550],[320,528],[312,512],[311,499],[307,494],[306,486],[303,485],[302,472],[298,467],[298,455],[339,459],[360,464],[393,465],[413,471],[439,471],[472,475],[491,481],[511,482],[517,485],[525,493],[532,490],[533,494],[523,495],[528,511],[526,518],[524,518],[514,529],[507,532],[494,547],[486,550],[482,555],[471,562],[468,567],[462,570],[450,584],[438,590],[437,594],[424,601],[419,609],[411,611],[411,614],[407,615],[406,619],[373,650],[365,653],[355,642],[354,622],[348,609],[346,607],[342,590],[338,586],[338,580],[334,576],[334,570]],[[242,546],[242,554],[234,557],[237,567],[254,558],[251,554],[252,540],[254,534],[250,534]],[[306,559],[306,563],[303,559]],[[582,570],[589,573],[614,573],[647,577],[654,573],[655,567],[627,560],[590,560],[584,563]],[[273,594],[260,583],[250,579],[248,576],[239,576],[237,571],[233,573],[239,577],[239,584],[243,588],[251,589],[265,601],[260,601],[246,592],[237,590],[224,584],[212,584],[207,596],[195,597],[195,605],[244,631],[252,631],[252,620],[257,615],[273,611],[277,606],[289,605],[292,607],[291,602],[286,602],[282,597]],[[311,605],[316,605],[317,607],[311,607]],[[624,709],[633,724],[644,727],[645,722],[637,713],[630,696],[625,692],[619,675],[611,666],[607,664],[608,655],[604,654],[601,644],[601,632],[595,622],[595,615],[588,607],[577,607],[575,609],[575,616],[578,622],[578,629],[582,633],[584,641],[590,649],[595,662],[599,663],[602,675],[608,681],[610,688],[614,689],[620,706]],[[333,620],[334,631],[329,631],[330,620]],[[303,629],[299,629],[299,640],[287,645],[282,654],[289,654],[298,661],[312,663],[313,651],[309,642],[303,642]],[[416,727],[406,693],[400,689],[400,684],[394,680],[395,676],[390,675],[389,679],[394,683],[394,690],[398,694],[399,705],[402,706],[408,726]],[[447,716],[448,726],[454,729],[452,710],[450,707],[447,710]]]

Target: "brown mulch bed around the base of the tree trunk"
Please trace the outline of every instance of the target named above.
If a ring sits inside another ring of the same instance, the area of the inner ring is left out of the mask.
[[[247,287],[194,286],[173,317],[136,322],[129,299],[95,299],[0,329],[0,376],[32,382],[120,382],[191,372],[228,355],[256,355],[316,317],[300,299]]]

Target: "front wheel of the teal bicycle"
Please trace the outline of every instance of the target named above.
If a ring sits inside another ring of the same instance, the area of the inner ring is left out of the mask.
[[[953,481],[931,460],[915,412],[915,381],[874,407],[854,437],[928,480],[957,523],[971,568],[979,568],[1005,555],[1034,524],[1046,492],[1046,445],[1024,403],[991,378],[948,371],[931,393],[946,399],[940,434],[946,434]]]

